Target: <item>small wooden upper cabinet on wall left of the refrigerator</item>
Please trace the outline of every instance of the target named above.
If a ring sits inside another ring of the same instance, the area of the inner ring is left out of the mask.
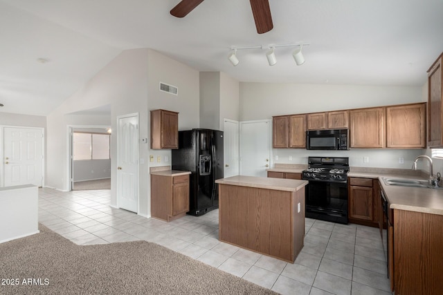
[[[151,149],[179,149],[179,113],[151,111]]]

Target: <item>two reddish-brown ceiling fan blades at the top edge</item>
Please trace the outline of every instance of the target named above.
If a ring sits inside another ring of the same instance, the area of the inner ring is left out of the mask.
[[[171,10],[171,15],[174,17],[186,17],[189,12],[194,10],[204,0],[181,0]],[[269,32],[273,28],[271,9],[269,8],[269,0],[250,0],[252,14],[255,20],[255,27],[257,33],[263,34]]]

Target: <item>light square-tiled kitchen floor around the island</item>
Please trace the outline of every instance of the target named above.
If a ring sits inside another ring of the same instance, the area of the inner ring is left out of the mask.
[[[391,294],[379,230],[306,218],[296,262],[218,240],[218,210],[172,222],[109,207],[110,191],[39,189],[39,222],[78,245],[147,240],[280,294]]]

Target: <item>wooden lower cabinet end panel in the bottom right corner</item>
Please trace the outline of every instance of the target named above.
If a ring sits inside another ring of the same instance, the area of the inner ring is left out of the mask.
[[[442,294],[443,216],[394,209],[396,295]]]

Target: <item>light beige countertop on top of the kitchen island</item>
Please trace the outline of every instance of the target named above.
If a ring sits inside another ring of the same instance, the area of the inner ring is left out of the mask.
[[[308,181],[237,175],[215,180],[215,183],[237,185],[240,187],[256,187],[258,189],[273,189],[277,191],[298,191],[302,187],[305,187]]]

